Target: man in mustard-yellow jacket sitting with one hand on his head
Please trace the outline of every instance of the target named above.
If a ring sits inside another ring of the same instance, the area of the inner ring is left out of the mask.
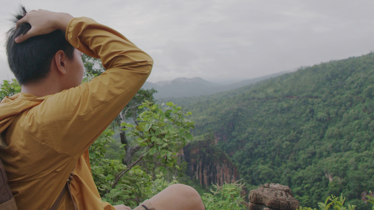
[[[59,210],[130,209],[101,201],[82,154],[141,88],[152,59],[92,19],[22,10],[6,43],[22,89],[0,103],[0,158],[18,208],[50,209],[73,170],[72,198],[66,192]],[[107,69],[84,84],[82,53],[101,58]],[[172,185],[135,209],[204,207],[193,188]]]

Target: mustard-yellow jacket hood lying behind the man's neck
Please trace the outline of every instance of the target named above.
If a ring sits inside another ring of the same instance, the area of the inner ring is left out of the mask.
[[[0,133],[12,124],[19,113],[39,105],[43,100],[44,98],[28,93],[17,93],[10,97],[5,96],[0,102]]]

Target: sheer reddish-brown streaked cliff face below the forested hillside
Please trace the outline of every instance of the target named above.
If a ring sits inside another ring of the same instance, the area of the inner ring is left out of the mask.
[[[223,185],[239,180],[239,172],[223,151],[216,148],[211,140],[203,140],[187,145],[183,149],[187,162],[187,175],[200,181],[203,187],[212,183]]]

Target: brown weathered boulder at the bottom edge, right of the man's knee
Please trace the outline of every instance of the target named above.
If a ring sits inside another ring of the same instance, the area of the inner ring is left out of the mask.
[[[288,186],[267,183],[249,192],[249,210],[295,210],[299,206]]]

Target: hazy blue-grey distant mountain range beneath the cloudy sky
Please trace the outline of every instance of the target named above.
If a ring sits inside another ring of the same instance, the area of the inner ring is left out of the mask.
[[[183,98],[191,96],[209,95],[213,93],[224,92],[228,90],[234,90],[239,87],[247,86],[253,83],[257,83],[261,80],[266,80],[278,75],[288,73],[289,71],[283,71],[276,74],[270,74],[263,77],[254,79],[242,80],[233,84],[217,84],[204,80],[200,77],[185,78],[180,77],[171,81],[159,81],[156,83],[145,82],[142,86],[143,89],[154,88],[157,93],[154,94],[156,99],[160,98]]]

